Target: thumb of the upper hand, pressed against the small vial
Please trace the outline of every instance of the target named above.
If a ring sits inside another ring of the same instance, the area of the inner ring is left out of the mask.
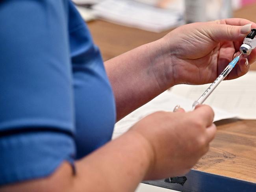
[[[252,24],[244,26],[214,24],[208,32],[214,41],[241,41],[250,32],[251,26]]]

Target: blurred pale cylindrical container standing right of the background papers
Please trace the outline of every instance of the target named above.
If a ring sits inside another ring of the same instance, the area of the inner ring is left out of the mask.
[[[206,5],[206,0],[185,0],[184,18],[186,23],[207,21]]]

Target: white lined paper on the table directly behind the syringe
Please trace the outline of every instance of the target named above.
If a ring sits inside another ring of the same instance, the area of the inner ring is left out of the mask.
[[[256,72],[249,71],[243,77],[222,81],[204,102],[228,113],[237,114],[238,118],[256,119]],[[209,86],[176,85],[171,92],[187,99],[196,100]]]

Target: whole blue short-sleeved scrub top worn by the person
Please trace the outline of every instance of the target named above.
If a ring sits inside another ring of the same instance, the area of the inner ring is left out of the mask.
[[[111,139],[115,102],[69,0],[0,2],[0,185],[52,174]]]

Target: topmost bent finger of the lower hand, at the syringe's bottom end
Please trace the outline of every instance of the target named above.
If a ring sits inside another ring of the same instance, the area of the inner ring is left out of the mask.
[[[196,118],[198,121],[202,120],[203,124],[208,127],[212,124],[214,118],[214,111],[208,105],[197,105],[195,110],[191,112],[192,118]]]

